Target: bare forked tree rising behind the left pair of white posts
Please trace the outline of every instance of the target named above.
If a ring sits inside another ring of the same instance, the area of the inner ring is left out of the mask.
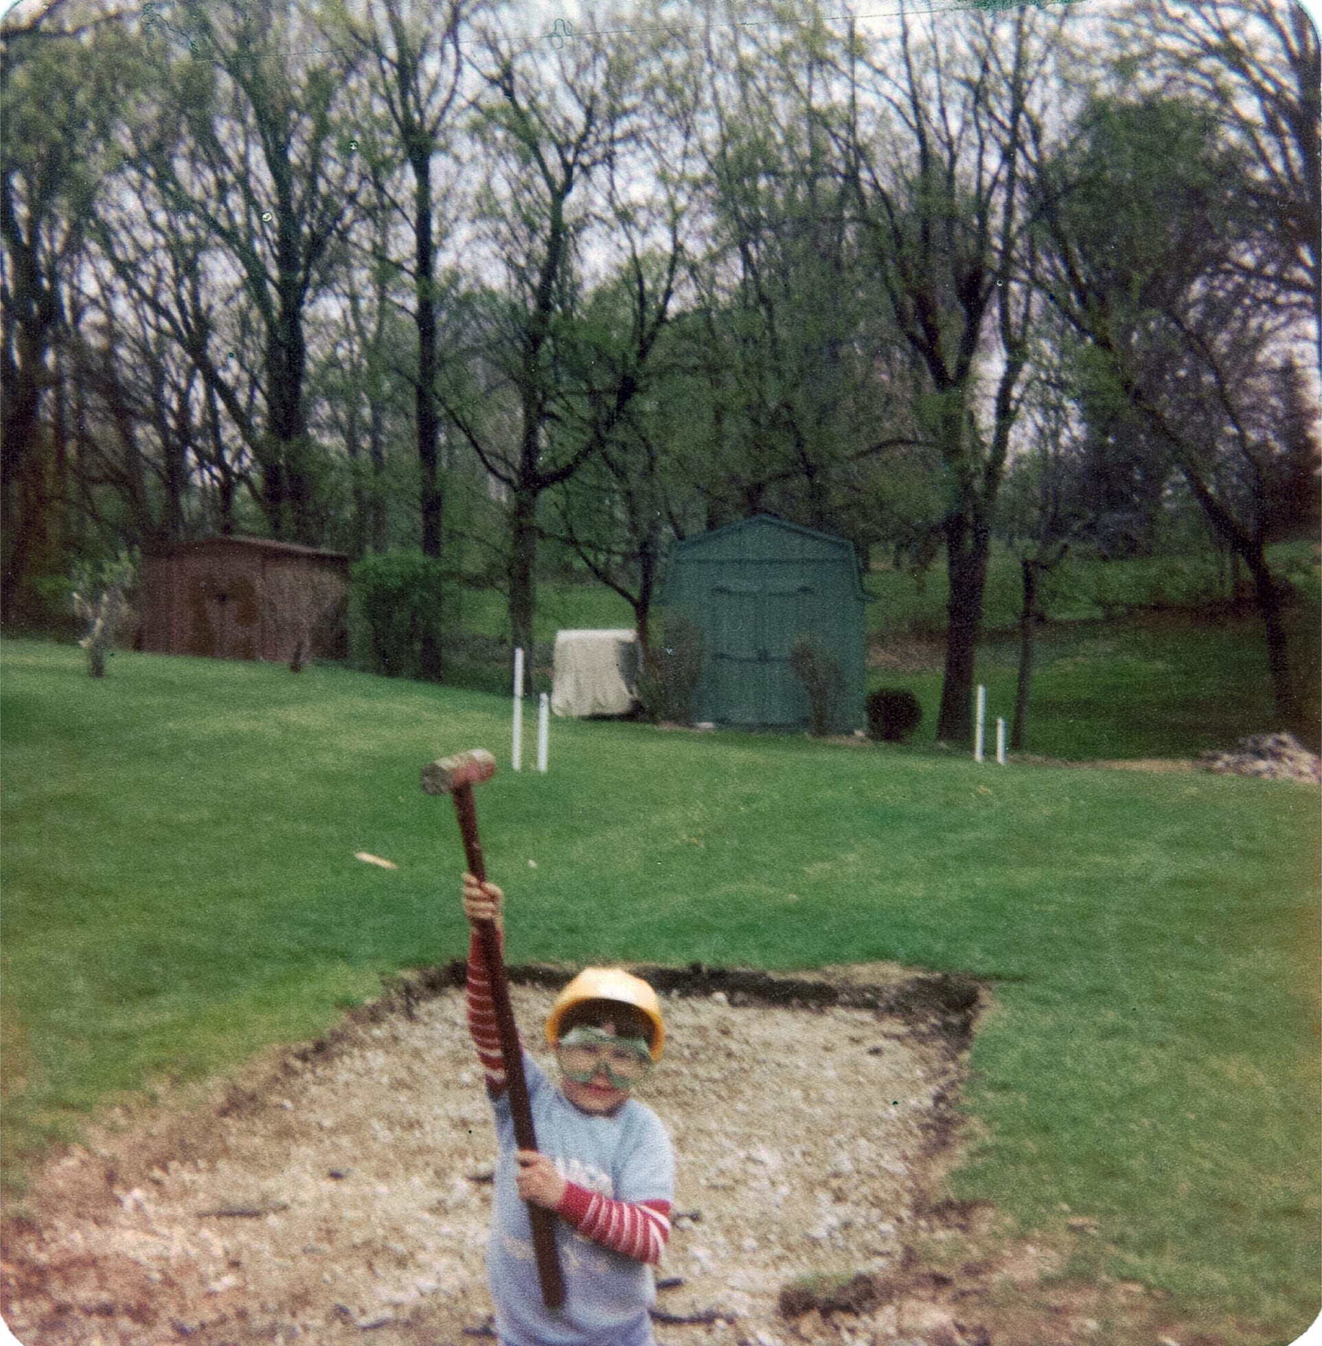
[[[525,649],[532,645],[538,502],[600,448],[638,389],[627,367],[610,386],[591,382],[591,358],[575,323],[582,253],[595,222],[590,188],[629,153],[645,112],[637,46],[575,38],[547,59],[545,52],[516,52],[489,28],[477,58],[487,90],[474,137],[485,174],[477,214],[505,288],[486,296],[471,396],[450,392],[444,406],[509,494],[510,634]],[[668,291],[648,299],[642,354],[668,304]],[[506,393],[517,406],[513,439],[489,415]]]

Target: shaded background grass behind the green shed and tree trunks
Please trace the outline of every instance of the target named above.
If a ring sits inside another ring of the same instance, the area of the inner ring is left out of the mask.
[[[1317,612],[1318,567],[1299,544],[1274,553],[1282,573],[1300,591],[1294,614],[1292,658],[1310,723],[1298,727],[1314,747],[1322,742],[1322,651]],[[1051,621],[1034,643],[1033,699],[1024,751],[1038,756],[1090,760],[1109,758],[1197,756],[1230,750],[1248,734],[1282,725],[1272,705],[1267,649],[1252,612],[1198,607],[1214,587],[1206,557],[1144,557],[1134,561],[1078,561],[1054,572],[1045,595]],[[995,721],[1014,716],[1019,666],[1015,634],[1019,612],[1018,565],[995,551],[987,587],[985,630],[976,678],[987,686],[988,747]],[[941,704],[945,575],[940,563],[921,587],[907,572],[876,569],[868,587],[879,594],[866,610],[871,641],[899,649],[903,670],[882,664],[868,673],[868,689],[903,686],[922,705],[914,742],[933,743]],[[1158,604],[1154,610],[1148,604]],[[463,623],[486,635],[505,634],[505,599],[495,590],[470,591]],[[1131,608],[1103,621],[1104,611]],[[575,627],[629,627],[633,612],[599,584],[543,584],[534,639],[549,645],[555,633]],[[660,623],[658,623],[660,625]],[[536,686],[549,690],[549,666]],[[464,677],[487,690],[509,682],[503,664],[489,678]]]

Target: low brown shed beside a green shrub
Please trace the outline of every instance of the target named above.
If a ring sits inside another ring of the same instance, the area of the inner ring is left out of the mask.
[[[349,557],[260,537],[168,542],[144,551],[139,602],[155,654],[343,658]]]

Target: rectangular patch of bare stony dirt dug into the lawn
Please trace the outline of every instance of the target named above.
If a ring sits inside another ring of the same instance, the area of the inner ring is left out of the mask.
[[[637,970],[669,1030],[639,1096],[680,1166],[658,1346],[1112,1339],[1086,1295],[1024,1298],[1058,1269],[1050,1252],[996,1245],[937,1271],[917,1250],[991,1225],[941,1199],[985,1003],[975,981],[879,964]],[[565,976],[514,969],[526,1040]],[[451,964],[188,1108],[121,1112],[53,1159],[31,1217],[4,1230],[4,1319],[24,1346],[490,1339],[491,1171]]]

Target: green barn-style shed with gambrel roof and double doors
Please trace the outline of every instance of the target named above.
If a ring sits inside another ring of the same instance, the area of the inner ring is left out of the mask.
[[[700,633],[696,721],[794,728],[808,693],[789,654],[804,637],[836,661],[833,728],[864,728],[863,604],[854,544],[770,514],[676,542],[661,606]]]

